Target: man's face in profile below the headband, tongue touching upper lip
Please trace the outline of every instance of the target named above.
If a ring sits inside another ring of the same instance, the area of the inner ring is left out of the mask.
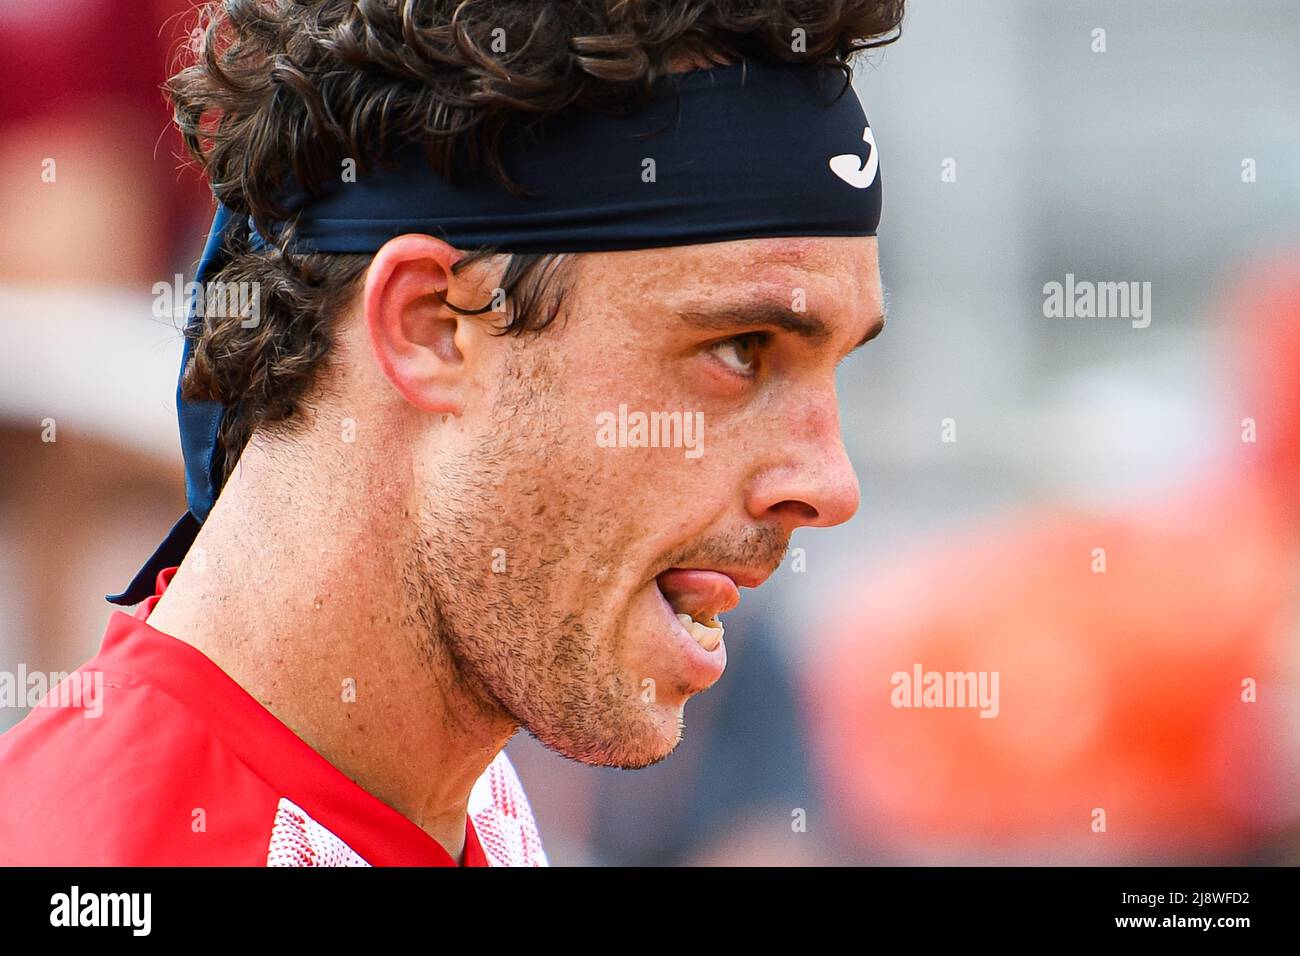
[[[472,438],[429,484],[412,589],[484,702],[568,757],[641,767],[725,666],[676,614],[729,610],[794,528],[857,511],[835,375],[880,329],[876,241],[571,265],[562,317],[498,339]]]

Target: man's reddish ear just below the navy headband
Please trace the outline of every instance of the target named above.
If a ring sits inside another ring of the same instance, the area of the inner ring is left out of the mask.
[[[424,411],[459,415],[469,371],[467,351],[481,337],[474,316],[448,308],[477,308],[473,282],[451,267],[463,256],[432,235],[399,235],[370,263],[361,293],[365,328],[374,359],[407,402]]]

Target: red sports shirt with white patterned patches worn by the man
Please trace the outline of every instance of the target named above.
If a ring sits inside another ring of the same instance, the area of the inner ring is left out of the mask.
[[[202,652],[146,623],[174,572],[134,615],[114,611],[99,654],[0,735],[0,865],[455,866]],[[463,865],[546,865],[504,752],[471,795]]]

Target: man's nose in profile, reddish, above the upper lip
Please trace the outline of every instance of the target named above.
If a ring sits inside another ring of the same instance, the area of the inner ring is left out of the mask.
[[[805,407],[770,438],[779,454],[750,483],[745,507],[755,520],[796,528],[832,528],[861,503],[858,476],[844,447],[836,399]]]

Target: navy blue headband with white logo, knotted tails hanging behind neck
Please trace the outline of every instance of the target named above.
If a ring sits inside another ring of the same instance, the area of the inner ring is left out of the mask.
[[[862,104],[842,72],[746,61],[664,77],[655,98],[628,116],[571,109],[534,131],[508,126],[502,140],[514,195],[486,172],[452,183],[407,143],[384,168],[315,193],[287,191],[295,252],[376,252],[407,233],[455,248],[597,252],[748,238],[875,235],[880,172]],[[276,229],[278,230],[280,226]],[[225,265],[224,237],[244,230],[217,207],[195,281]],[[194,300],[187,326],[196,328]],[[186,339],[183,376],[190,358]],[[159,571],[178,564],[217,497],[217,436],[224,406],[181,397],[188,510],[131,584],[109,601],[153,593]]]

